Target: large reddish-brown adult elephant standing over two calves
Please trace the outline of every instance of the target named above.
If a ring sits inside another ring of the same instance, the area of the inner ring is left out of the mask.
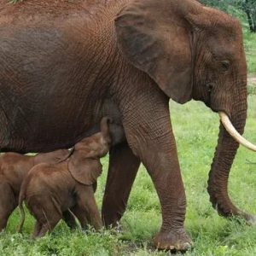
[[[247,67],[237,20],[193,0],[1,1],[2,150],[68,148],[108,114],[125,138],[110,154],[105,224],[121,218],[142,161],[162,209],[154,243],[183,250],[191,240],[170,98],[205,102],[243,132]],[[221,124],[208,191],[220,214],[250,222],[227,193],[237,148]]]

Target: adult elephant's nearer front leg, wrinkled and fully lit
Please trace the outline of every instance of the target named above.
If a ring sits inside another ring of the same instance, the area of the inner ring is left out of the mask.
[[[186,250],[192,242],[183,228],[186,197],[168,103],[145,102],[147,106],[141,104],[124,114],[123,125],[132,151],[146,166],[160,198],[162,226],[154,244],[162,249]]]

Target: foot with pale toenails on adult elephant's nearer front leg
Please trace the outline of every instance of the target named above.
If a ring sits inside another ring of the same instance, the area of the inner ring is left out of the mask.
[[[160,231],[154,237],[154,246],[160,250],[171,250],[176,252],[184,252],[193,247],[193,243],[186,231],[172,230]]]

